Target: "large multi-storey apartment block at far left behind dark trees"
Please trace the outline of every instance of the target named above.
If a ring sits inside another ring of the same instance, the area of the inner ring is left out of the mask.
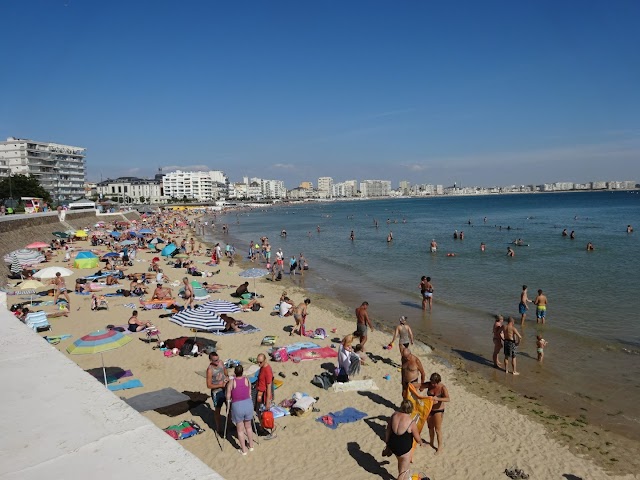
[[[9,137],[0,142],[0,177],[31,175],[56,201],[84,195],[85,148]]]

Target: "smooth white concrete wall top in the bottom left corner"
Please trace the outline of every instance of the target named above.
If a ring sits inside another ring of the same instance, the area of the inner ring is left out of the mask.
[[[4,305],[0,384],[0,479],[222,480]]]

